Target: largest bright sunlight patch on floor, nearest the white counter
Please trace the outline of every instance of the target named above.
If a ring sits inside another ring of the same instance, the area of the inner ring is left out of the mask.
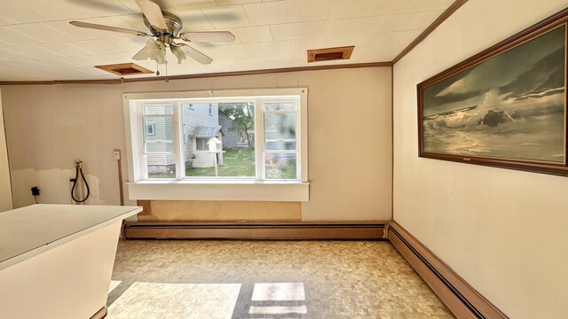
[[[106,319],[231,319],[241,284],[132,284]]]

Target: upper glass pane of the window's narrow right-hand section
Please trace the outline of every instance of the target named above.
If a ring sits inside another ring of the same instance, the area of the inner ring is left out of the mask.
[[[296,150],[296,114],[264,114],[264,149],[270,151]]]

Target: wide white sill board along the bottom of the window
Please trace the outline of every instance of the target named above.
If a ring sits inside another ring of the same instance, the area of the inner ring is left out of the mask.
[[[131,200],[307,202],[310,200],[310,183],[252,180],[140,181],[128,183],[128,194]]]

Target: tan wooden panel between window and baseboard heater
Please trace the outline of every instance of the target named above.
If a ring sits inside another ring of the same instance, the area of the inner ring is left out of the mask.
[[[151,200],[146,205],[145,211],[150,214],[138,214],[138,221],[302,220],[300,202]]]

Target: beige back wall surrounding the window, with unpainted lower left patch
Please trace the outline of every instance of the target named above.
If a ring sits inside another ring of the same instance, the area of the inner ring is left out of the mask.
[[[169,83],[4,86],[14,205],[33,203],[33,184],[41,187],[43,202],[69,203],[74,159],[83,159],[87,179],[96,185],[94,203],[120,202],[113,150],[126,153],[123,92],[288,87],[309,88],[311,200],[302,204],[302,218],[389,219],[390,67]]]

